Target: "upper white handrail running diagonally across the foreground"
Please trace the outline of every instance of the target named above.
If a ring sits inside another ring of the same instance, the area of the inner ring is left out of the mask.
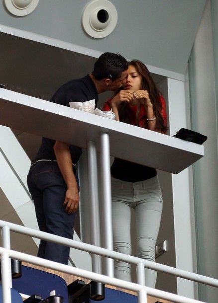
[[[19,225],[13,224],[13,223],[9,223],[9,222],[0,220],[0,228],[2,228],[4,226],[8,226],[11,231],[19,232],[21,234],[33,236],[33,237],[40,238],[40,239],[43,239],[46,241],[51,241],[51,242],[54,242],[57,244],[63,244],[66,246],[70,246],[72,248],[76,248],[76,249],[83,250],[83,251],[88,251],[90,253],[101,255],[104,257],[109,257],[112,259],[118,259],[118,260],[129,262],[129,263],[135,264],[135,265],[143,263],[144,266],[149,269],[161,271],[161,272],[171,274],[171,275],[174,275],[174,276],[177,276],[180,278],[185,278],[185,279],[192,280],[195,282],[200,282],[200,283],[204,283],[204,284],[207,284],[210,286],[218,287],[218,280],[214,279],[214,278],[191,273],[191,272],[177,269],[177,268],[174,268],[171,266],[140,259],[138,257],[129,256],[129,255],[122,254],[119,252],[111,251],[106,248],[97,247],[97,246],[94,246],[91,244],[78,242],[75,240],[70,240],[70,239],[67,239],[67,238],[64,238],[61,236],[57,236],[57,235],[53,235],[53,234],[50,234],[50,233],[47,233],[44,231],[39,231],[39,230],[35,230],[32,228],[23,227],[23,226],[19,226]],[[8,229],[6,229],[6,230],[8,230]],[[4,232],[4,230],[2,230],[2,232]]]

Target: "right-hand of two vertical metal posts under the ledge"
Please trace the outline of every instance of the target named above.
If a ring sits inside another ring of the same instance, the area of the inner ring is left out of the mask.
[[[105,247],[113,250],[109,134],[100,134],[101,182]],[[113,259],[106,259],[106,275],[114,276]]]

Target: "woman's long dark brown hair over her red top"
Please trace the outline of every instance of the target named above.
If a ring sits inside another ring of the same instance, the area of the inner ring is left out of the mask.
[[[128,65],[132,65],[136,68],[137,72],[142,76],[142,87],[141,89],[147,90],[149,93],[149,98],[153,105],[154,115],[156,117],[156,128],[162,133],[166,133],[167,127],[164,124],[164,119],[161,115],[162,104],[160,101],[160,91],[157,88],[154,80],[147,67],[139,60],[132,60],[128,62]],[[121,103],[119,107],[119,118],[120,121],[129,123],[130,122],[130,110],[126,103]],[[147,125],[145,125],[147,127]]]

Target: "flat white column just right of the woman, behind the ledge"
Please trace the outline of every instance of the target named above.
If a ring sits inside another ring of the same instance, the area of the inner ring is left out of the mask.
[[[169,125],[170,135],[180,128],[188,128],[185,83],[168,78]],[[169,159],[170,160],[170,159]],[[189,168],[179,174],[172,174],[174,205],[176,267],[194,271],[195,253],[193,251],[194,220],[191,215],[191,196]],[[178,295],[195,298],[194,282],[177,278]]]

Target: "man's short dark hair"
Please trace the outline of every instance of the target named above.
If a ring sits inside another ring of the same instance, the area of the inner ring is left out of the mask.
[[[96,61],[92,74],[96,80],[109,78],[114,81],[119,78],[122,72],[126,71],[127,68],[128,63],[121,55],[104,53]]]

